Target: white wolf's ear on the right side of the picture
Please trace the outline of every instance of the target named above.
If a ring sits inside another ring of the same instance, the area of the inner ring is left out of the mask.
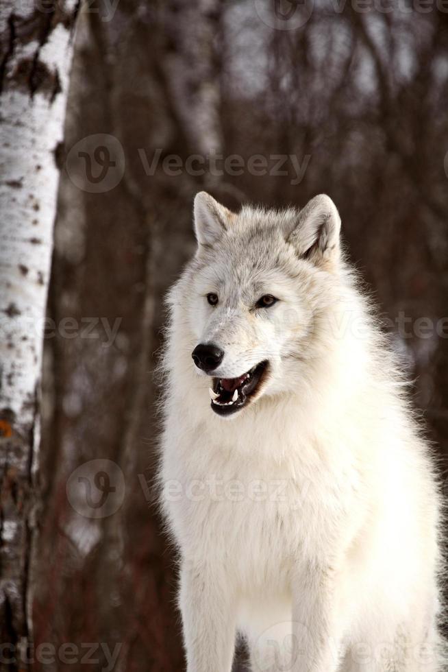
[[[322,193],[314,196],[299,212],[297,225],[288,237],[299,256],[313,263],[338,261],[340,217],[332,199]]]

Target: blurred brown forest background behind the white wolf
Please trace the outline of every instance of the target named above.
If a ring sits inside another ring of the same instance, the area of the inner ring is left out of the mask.
[[[116,671],[184,669],[174,556],[153,496],[154,368],[163,296],[195,249],[201,189],[229,208],[303,206],[322,191],[334,199],[445,468],[448,7],[359,5],[84,5],[57,156],[36,646],[121,643]],[[431,321],[424,337],[421,317]],[[70,332],[64,318],[97,322],[88,335],[87,322]],[[114,337],[105,324],[117,325]],[[118,511],[99,518],[66,492],[93,459],[114,461],[125,483]],[[106,665],[100,657],[95,669]]]

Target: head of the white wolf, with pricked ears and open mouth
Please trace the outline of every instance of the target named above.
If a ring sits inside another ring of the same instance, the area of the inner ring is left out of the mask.
[[[201,192],[194,212],[197,254],[171,292],[177,344],[182,331],[184,372],[203,376],[212,410],[230,416],[294,392],[328,347],[340,217],[326,195],[299,212],[235,214]]]

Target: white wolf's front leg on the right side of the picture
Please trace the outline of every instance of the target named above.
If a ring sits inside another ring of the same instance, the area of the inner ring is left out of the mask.
[[[309,568],[293,586],[292,672],[336,672],[343,614],[338,573]]]

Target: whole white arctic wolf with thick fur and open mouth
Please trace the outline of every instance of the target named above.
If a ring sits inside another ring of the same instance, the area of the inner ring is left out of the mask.
[[[199,193],[195,230],[160,470],[188,672],[229,672],[237,632],[256,671],[445,669],[436,479],[336,206]]]

